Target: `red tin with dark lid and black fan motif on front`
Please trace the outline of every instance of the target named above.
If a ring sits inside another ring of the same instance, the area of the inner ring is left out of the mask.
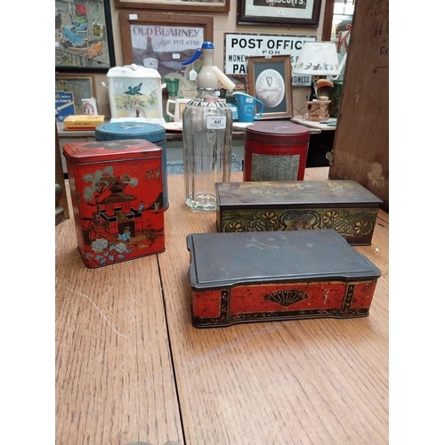
[[[368,316],[380,271],[336,231],[192,233],[192,323]]]

